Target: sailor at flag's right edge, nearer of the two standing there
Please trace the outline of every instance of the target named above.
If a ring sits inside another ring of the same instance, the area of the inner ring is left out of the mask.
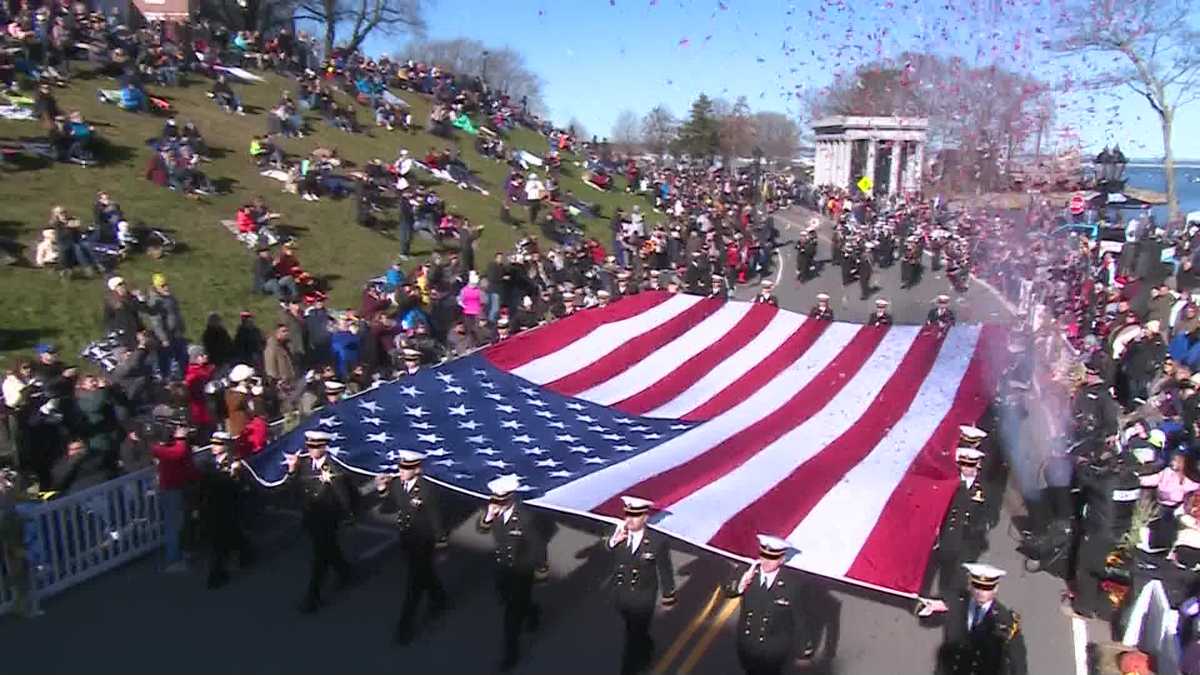
[[[938,590],[943,596],[961,590],[962,574],[959,568],[964,562],[979,557],[988,534],[989,495],[979,476],[983,452],[977,448],[958,448],[954,456],[959,465],[959,480],[946,518],[942,519],[934,550]]]

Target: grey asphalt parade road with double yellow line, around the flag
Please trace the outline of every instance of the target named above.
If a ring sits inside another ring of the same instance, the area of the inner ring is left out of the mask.
[[[805,223],[808,215],[780,219]],[[863,321],[874,301],[858,299],[858,286],[841,292],[832,265],[808,285],[787,275],[791,250],[781,250],[786,309],[806,311],[821,289],[834,297],[838,317]],[[821,257],[828,258],[828,244]],[[898,291],[898,269],[876,274],[880,293],[893,300],[898,321],[919,322],[929,300],[946,288],[926,277],[917,288]],[[746,295],[754,289],[744,289]],[[997,321],[1004,309],[977,285],[956,303],[960,319]],[[1001,597],[1021,613],[1030,651],[1030,673],[1075,673],[1069,620],[1058,611],[1061,583],[1022,572],[1007,534],[1008,516],[1020,513],[1015,494],[1006,498],[1004,518],[992,532],[989,560],[1010,571]],[[329,596],[316,615],[295,605],[307,578],[307,543],[294,514],[271,512],[254,524],[263,552],[259,563],[234,572],[218,591],[204,589],[203,561],[187,574],[158,571],[146,558],[85,583],[44,604],[32,620],[0,622],[5,673],[493,673],[499,657],[500,611],[491,585],[488,540],[474,531],[470,498],[446,495],[443,503],[455,524],[451,545],[439,562],[452,609],[427,626],[409,646],[391,643],[391,628],[403,593],[403,563],[386,527],[358,527],[346,533],[347,549],[361,558],[365,580]],[[542,627],[527,638],[516,673],[616,673],[622,623],[607,597],[607,563],[598,546],[602,526],[582,518],[546,514],[552,578],[535,590]],[[728,561],[685,545],[672,558],[679,602],[654,622],[655,673],[739,673],[733,625],[737,602],[715,596],[733,572]],[[924,675],[934,671],[941,631],[922,626],[913,603],[878,592],[812,579],[811,602],[824,617],[820,658],[794,673]]]

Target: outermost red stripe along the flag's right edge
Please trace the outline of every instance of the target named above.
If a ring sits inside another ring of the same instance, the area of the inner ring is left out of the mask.
[[[959,480],[954,465],[959,425],[977,422],[990,401],[988,359],[992,347],[1003,341],[1004,328],[985,325],[982,330],[954,402],[908,465],[846,577],[900,591],[919,591]]]

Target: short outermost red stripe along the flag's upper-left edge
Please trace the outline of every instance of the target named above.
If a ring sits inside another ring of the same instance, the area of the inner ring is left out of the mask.
[[[566,347],[606,323],[632,318],[671,298],[672,294],[666,291],[647,291],[623,298],[604,309],[578,311],[556,321],[553,325],[541,325],[518,333],[488,347],[484,350],[484,357],[496,368],[511,371]]]

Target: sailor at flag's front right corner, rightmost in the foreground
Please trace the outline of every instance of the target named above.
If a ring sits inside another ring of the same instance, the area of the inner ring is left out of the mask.
[[[965,563],[970,591],[943,599],[920,598],[919,616],[944,614],[944,641],[938,650],[938,675],[1026,675],[1021,617],[996,599],[1004,571]]]

